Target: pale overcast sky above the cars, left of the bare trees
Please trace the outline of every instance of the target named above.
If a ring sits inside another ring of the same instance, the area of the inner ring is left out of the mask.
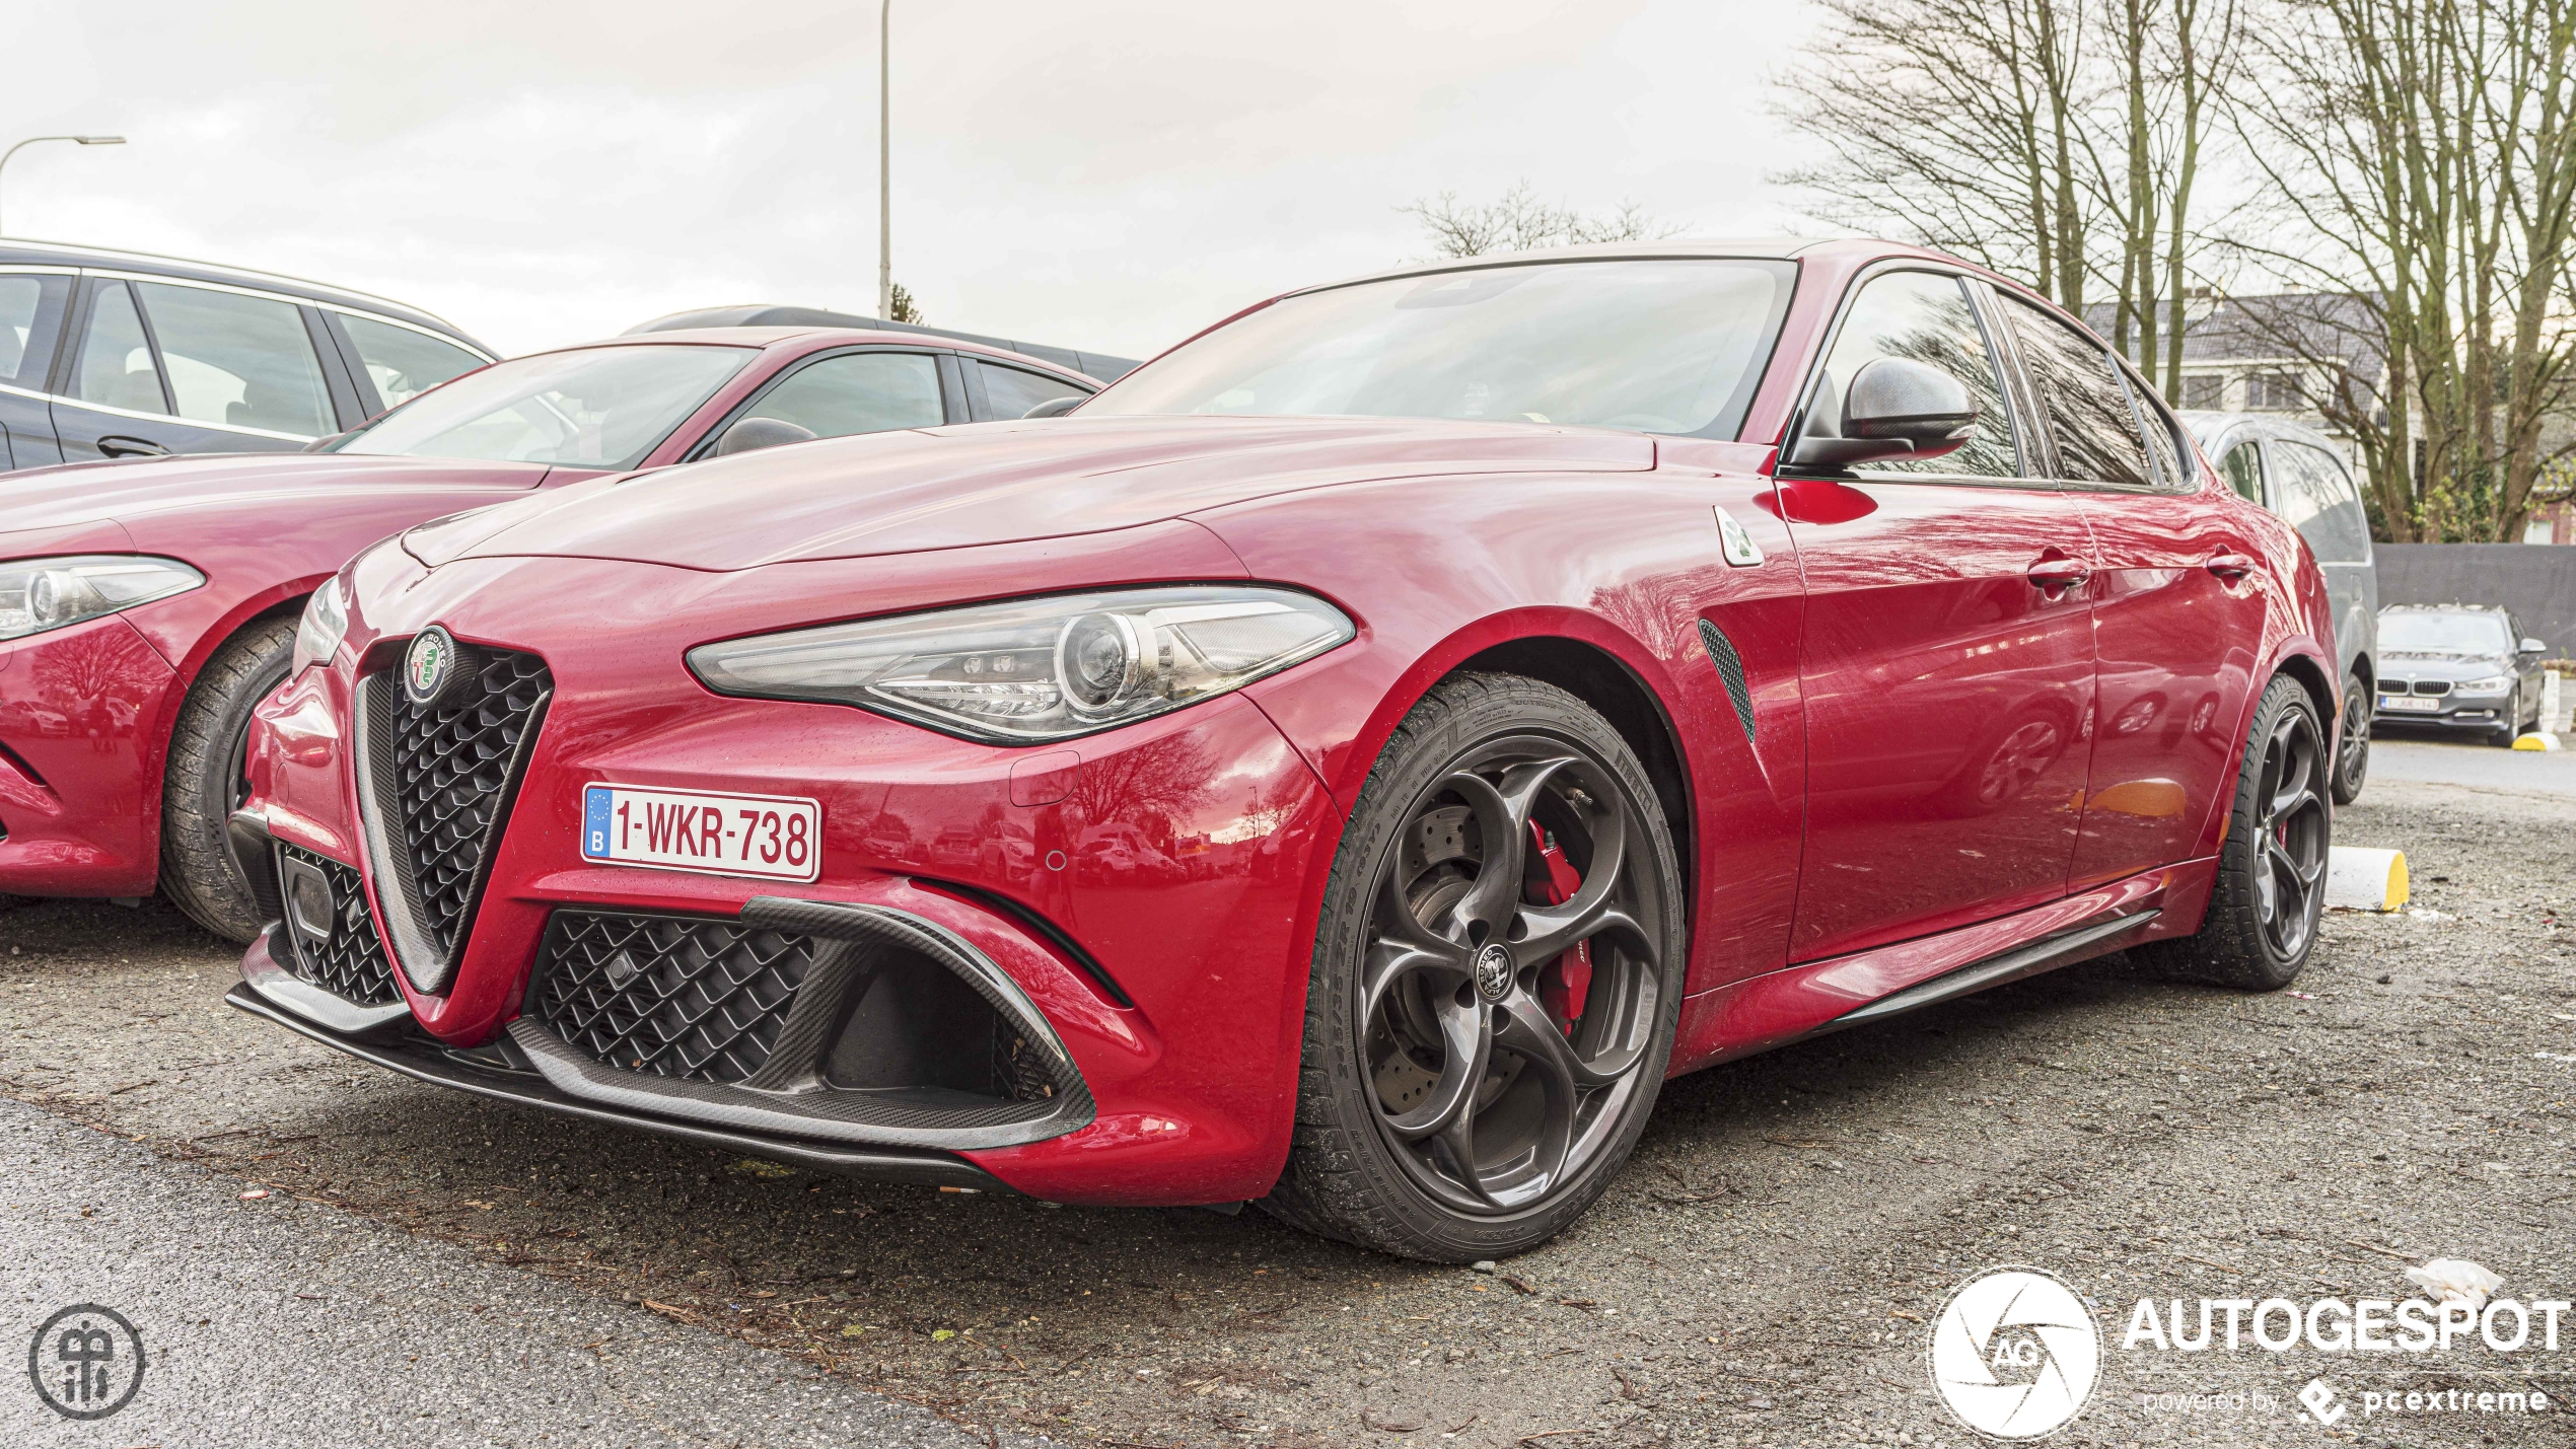
[[[1515,180],[1795,221],[1803,0],[894,0],[894,275],[935,324],[1144,355],[1425,252]],[[281,270],[523,353],[685,306],[876,309],[876,5],[28,5],[10,237]],[[1814,226],[1806,226],[1814,229]]]

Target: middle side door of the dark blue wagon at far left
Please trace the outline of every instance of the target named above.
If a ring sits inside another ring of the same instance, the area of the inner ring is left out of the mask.
[[[294,301],[139,275],[88,275],[82,293],[52,404],[64,461],[291,453],[340,430]]]

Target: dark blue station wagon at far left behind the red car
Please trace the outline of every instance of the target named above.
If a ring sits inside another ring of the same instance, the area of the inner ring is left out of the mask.
[[[0,242],[0,468],[294,453],[489,360],[448,322],[361,291]]]

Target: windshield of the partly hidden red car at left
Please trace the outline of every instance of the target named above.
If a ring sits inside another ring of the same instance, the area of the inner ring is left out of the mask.
[[[386,412],[332,453],[634,468],[755,355],[657,342],[492,363]]]

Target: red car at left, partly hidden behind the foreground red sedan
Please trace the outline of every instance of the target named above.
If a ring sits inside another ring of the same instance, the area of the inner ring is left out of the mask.
[[[600,474],[1020,417],[1097,386],[902,332],[657,332],[495,363],[301,456],[8,474],[0,893],[147,896],[160,883],[247,942],[263,916],[224,818],[247,795],[250,708],[286,679],[314,587],[389,533]]]

